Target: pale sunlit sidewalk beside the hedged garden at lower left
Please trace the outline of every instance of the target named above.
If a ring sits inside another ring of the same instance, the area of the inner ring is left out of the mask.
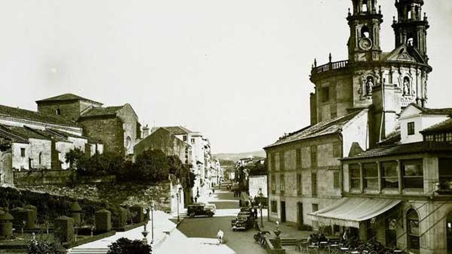
[[[152,222],[149,221],[146,225],[146,230],[149,231],[146,239],[151,243],[153,249],[158,249],[166,240],[167,236],[176,228],[177,224],[172,222],[172,216],[163,211],[154,211],[154,237],[152,236]],[[142,240],[142,231],[144,227],[134,228],[125,232],[117,232],[116,235],[100,239],[94,242],[86,243],[70,249],[69,253],[106,253],[108,245],[115,242],[119,238],[125,237],[130,240]]]

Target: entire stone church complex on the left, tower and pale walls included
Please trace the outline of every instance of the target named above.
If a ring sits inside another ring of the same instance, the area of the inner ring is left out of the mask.
[[[74,148],[93,155],[114,152],[131,158],[141,138],[134,109],[102,107],[75,94],[36,101],[37,111],[0,105],[0,180],[13,185],[13,170],[67,169]]]

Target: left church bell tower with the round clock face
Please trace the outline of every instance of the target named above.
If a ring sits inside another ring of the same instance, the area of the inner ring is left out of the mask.
[[[377,0],[352,0],[353,13],[348,12],[350,38],[348,56],[350,62],[380,60],[380,25],[383,15]]]

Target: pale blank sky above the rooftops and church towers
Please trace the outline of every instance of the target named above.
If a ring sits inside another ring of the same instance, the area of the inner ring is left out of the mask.
[[[426,0],[428,107],[452,107],[452,1]],[[259,150],[309,125],[309,73],[346,60],[350,0],[1,0],[0,104],[75,93],[131,104],[141,124]],[[393,0],[380,0],[383,51]]]

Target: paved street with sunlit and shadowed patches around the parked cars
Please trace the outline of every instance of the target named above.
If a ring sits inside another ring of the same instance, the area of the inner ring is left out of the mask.
[[[203,201],[203,200],[200,200]],[[222,189],[216,190],[212,198],[206,200],[217,206],[213,218],[186,218],[174,230],[165,243],[156,250],[157,254],[172,253],[266,253],[255,243],[253,235],[256,230],[232,231],[231,220],[238,212],[238,198]],[[216,239],[218,229],[224,232],[224,244],[218,245]]]

